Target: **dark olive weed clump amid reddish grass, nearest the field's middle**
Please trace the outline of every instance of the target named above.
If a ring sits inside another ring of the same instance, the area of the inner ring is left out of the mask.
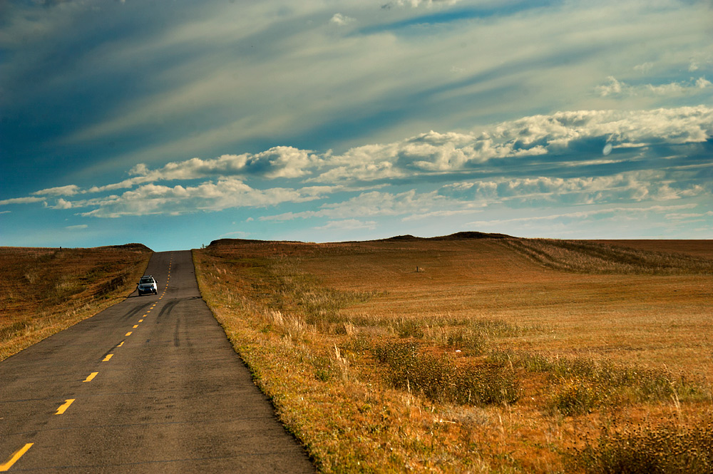
[[[456,364],[446,354],[419,352],[413,341],[387,342],[372,348],[386,367],[386,378],[401,388],[436,402],[471,405],[513,403],[520,388],[513,371],[498,364]]]

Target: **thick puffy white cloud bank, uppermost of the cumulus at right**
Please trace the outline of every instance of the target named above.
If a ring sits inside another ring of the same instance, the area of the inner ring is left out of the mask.
[[[501,158],[566,153],[577,140],[601,138],[614,148],[701,143],[713,135],[713,108],[579,110],[533,115],[480,132],[430,131],[396,143],[364,145],[322,160],[312,180],[384,180],[476,168]]]

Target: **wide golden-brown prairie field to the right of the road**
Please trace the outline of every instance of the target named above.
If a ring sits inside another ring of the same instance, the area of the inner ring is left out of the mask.
[[[581,242],[568,271],[532,244],[238,240],[194,259],[322,472],[713,472],[711,243]],[[638,263],[605,273],[622,252]]]

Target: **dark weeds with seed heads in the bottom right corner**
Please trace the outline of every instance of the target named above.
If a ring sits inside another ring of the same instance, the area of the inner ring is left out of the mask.
[[[605,427],[597,443],[565,455],[568,470],[586,474],[713,473],[713,423],[694,428]]]

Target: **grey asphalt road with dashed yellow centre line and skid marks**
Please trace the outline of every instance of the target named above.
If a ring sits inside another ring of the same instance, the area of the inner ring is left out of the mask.
[[[314,473],[200,298],[190,252],[0,363],[0,472]]]

